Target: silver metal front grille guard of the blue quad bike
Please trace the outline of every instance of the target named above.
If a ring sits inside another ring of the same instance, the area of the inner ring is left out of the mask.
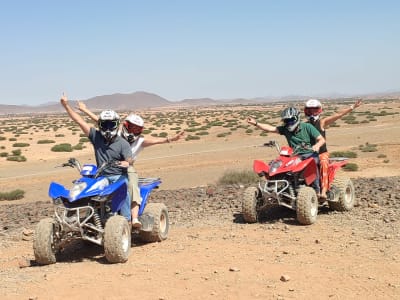
[[[98,228],[88,221],[95,215],[95,211],[91,206],[81,206],[76,208],[67,208],[61,205],[57,205],[54,209],[55,216],[61,225],[61,230],[65,232],[79,232],[80,236],[85,239],[89,240],[93,243],[101,245],[102,240],[101,238],[93,238],[88,236],[84,232],[84,228],[89,228],[94,230],[98,233],[104,233],[103,228]],[[71,214],[68,217],[68,214]],[[86,217],[85,217],[86,216]],[[81,221],[81,218],[83,220]]]

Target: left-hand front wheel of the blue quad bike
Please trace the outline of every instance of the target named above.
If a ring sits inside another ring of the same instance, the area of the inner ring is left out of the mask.
[[[33,253],[38,264],[56,263],[54,232],[55,223],[52,218],[42,219],[36,225],[33,237]]]

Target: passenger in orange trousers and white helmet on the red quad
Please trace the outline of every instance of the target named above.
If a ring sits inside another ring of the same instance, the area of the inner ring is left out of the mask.
[[[355,108],[362,104],[361,100],[357,100],[354,104],[343,109],[342,111],[325,118],[321,118],[322,104],[317,99],[309,99],[304,105],[304,114],[306,115],[308,122],[312,124],[321,135],[326,139],[326,129],[336,120],[352,112]],[[326,192],[328,188],[328,165],[329,165],[329,152],[326,144],[319,149],[319,161],[320,161],[320,176],[321,176],[321,194],[319,195],[321,200],[327,198]]]

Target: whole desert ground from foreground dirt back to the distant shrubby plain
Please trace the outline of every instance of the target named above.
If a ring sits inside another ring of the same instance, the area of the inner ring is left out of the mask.
[[[329,104],[324,113],[347,105]],[[23,199],[0,201],[0,298],[400,298],[400,102],[365,102],[353,118],[327,131],[330,152],[357,153],[350,161],[358,170],[346,172],[360,203],[353,211],[322,207],[315,224],[300,226],[293,212],[278,209],[260,223],[245,224],[245,187],[218,181],[227,171],[252,170],[253,160],[276,156],[262,145],[272,139],[285,144],[282,136],[260,135],[245,118],[279,124],[281,108],[139,111],[147,134],[185,130],[186,140],[139,155],[140,176],[162,179],[152,199],[167,204],[170,233],[161,243],[134,241],[128,262],[115,265],[100,247],[87,244],[67,249],[54,265],[35,263],[32,235],[40,218],[51,215],[50,181],[70,185],[78,174],[60,165],[70,157],[93,163],[93,151],[85,141],[81,150],[50,150],[82,139],[66,115],[0,117],[0,153],[7,153],[0,157],[0,192],[25,191]],[[46,140],[54,142],[38,143]],[[17,149],[26,161],[7,159]]]

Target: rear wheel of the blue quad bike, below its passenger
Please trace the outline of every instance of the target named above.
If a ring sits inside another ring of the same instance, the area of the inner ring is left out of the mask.
[[[153,229],[151,231],[140,231],[140,238],[149,243],[166,240],[169,231],[168,209],[164,203],[148,203],[144,214],[154,217]]]

